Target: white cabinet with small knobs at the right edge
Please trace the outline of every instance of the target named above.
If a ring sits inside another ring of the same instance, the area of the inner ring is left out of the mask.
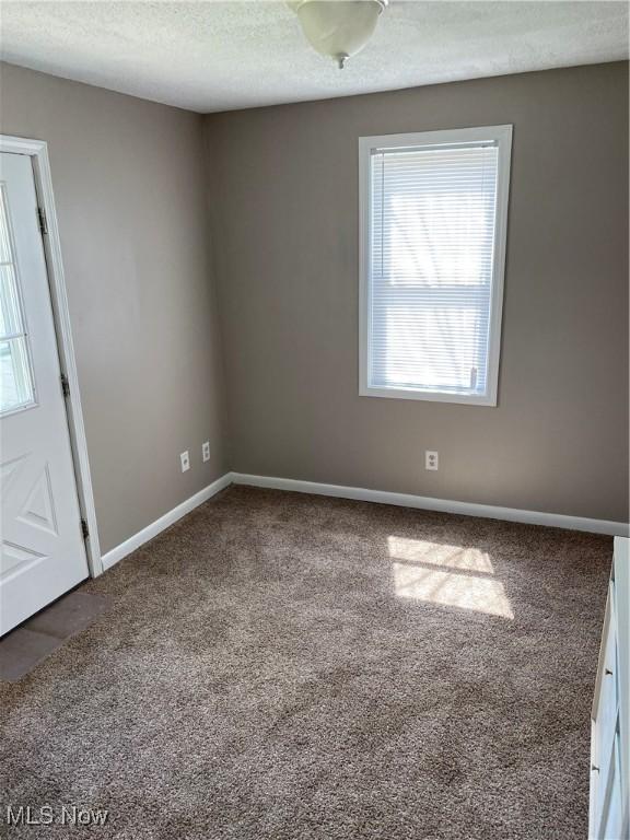
[[[599,651],[591,737],[591,840],[630,838],[629,540],[615,539],[615,557]]]

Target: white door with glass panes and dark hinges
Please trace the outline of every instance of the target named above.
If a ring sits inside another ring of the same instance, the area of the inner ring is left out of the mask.
[[[88,578],[31,158],[0,155],[0,634]]]

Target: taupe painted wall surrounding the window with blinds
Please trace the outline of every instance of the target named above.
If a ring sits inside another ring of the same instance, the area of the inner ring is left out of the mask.
[[[359,397],[357,139],[504,122],[499,406]],[[234,469],[627,517],[627,63],[211,115],[206,139]]]

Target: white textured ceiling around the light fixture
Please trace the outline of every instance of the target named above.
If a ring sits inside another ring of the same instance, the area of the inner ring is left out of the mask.
[[[392,0],[338,70],[282,2],[4,0],[5,61],[199,112],[628,57],[626,2]]]

